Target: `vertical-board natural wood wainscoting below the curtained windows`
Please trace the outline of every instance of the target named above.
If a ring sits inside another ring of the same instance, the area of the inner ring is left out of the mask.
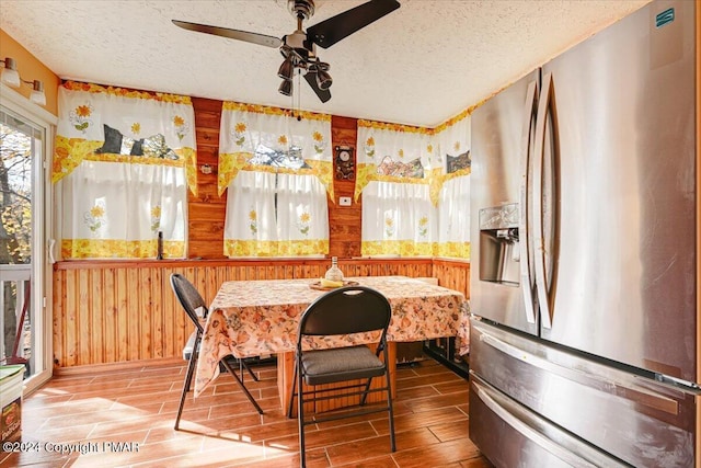
[[[435,276],[469,297],[468,262],[435,259],[341,259],[346,276]],[[192,332],[170,286],[181,273],[211,301],[225,281],[317,278],[314,260],[60,262],[54,271],[54,366],[73,367],[180,357]]]

